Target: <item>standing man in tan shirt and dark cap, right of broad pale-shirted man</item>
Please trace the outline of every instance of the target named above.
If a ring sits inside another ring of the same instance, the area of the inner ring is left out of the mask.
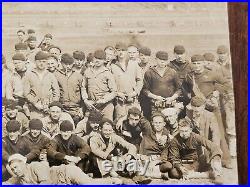
[[[62,68],[55,72],[60,87],[60,102],[77,124],[83,118],[81,89],[83,76],[73,69],[74,58],[64,53],[61,57]]]

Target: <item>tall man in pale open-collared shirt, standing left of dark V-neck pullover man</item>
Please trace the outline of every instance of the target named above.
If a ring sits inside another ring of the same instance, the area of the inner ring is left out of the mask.
[[[124,43],[116,46],[118,61],[111,65],[111,72],[117,85],[115,119],[127,115],[128,109],[138,104],[137,97],[141,92],[143,77],[138,63],[128,60],[127,47]]]

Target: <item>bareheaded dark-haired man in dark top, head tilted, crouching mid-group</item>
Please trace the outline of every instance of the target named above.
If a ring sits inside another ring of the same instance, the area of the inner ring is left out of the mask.
[[[150,122],[142,116],[140,109],[132,107],[128,116],[122,117],[116,124],[117,133],[127,142],[139,150],[142,136],[149,135],[152,131]]]

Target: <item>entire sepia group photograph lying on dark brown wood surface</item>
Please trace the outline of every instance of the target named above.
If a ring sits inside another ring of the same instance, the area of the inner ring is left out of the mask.
[[[2,184],[238,184],[227,3],[2,3]]]

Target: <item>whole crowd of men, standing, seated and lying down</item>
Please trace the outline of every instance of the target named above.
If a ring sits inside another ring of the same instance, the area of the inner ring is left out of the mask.
[[[189,59],[176,45],[170,60],[166,51],[153,57],[148,47],[117,43],[85,56],[63,53],[51,34],[40,44],[32,29],[17,36],[12,62],[2,56],[5,183],[98,181],[88,175],[223,183],[222,167],[232,169],[236,157],[226,46]],[[119,159],[146,171],[104,167]]]

